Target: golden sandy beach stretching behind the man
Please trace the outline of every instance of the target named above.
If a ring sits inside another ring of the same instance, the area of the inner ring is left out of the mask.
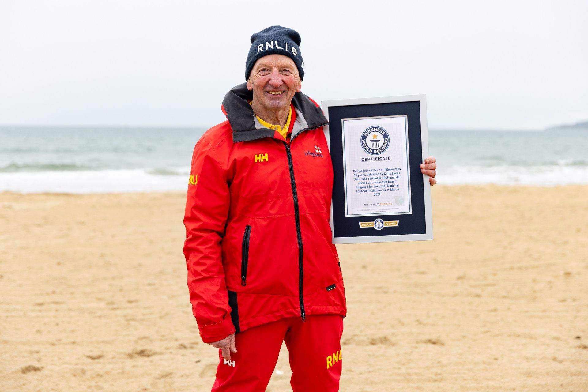
[[[432,242],[338,246],[340,390],[588,391],[588,186],[432,193]],[[0,194],[0,390],[210,390],[184,200]]]

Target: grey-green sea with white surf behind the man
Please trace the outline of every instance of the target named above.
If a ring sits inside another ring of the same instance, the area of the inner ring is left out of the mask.
[[[0,126],[0,192],[185,191],[205,128]],[[588,184],[588,130],[429,130],[443,185]]]

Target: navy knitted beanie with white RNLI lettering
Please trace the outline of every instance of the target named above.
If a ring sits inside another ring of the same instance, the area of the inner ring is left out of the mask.
[[[255,62],[267,55],[285,55],[291,58],[298,68],[300,80],[304,78],[304,62],[300,55],[300,34],[282,26],[271,26],[251,36],[251,48],[245,63],[245,80]]]

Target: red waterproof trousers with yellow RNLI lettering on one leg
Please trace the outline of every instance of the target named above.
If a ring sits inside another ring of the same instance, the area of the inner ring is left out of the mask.
[[[335,392],[341,376],[343,317],[317,314],[290,317],[235,334],[230,361],[219,349],[212,392],[262,392],[278,361],[282,341],[288,347],[294,392]]]

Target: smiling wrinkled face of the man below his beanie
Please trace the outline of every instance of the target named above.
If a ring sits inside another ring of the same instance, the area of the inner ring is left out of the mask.
[[[276,54],[256,61],[247,81],[255,104],[272,111],[288,108],[294,93],[300,92],[301,87],[298,68],[292,59]]]

